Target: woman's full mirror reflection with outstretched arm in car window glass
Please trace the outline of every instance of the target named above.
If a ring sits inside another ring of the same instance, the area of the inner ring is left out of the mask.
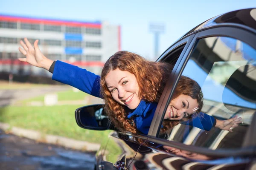
[[[180,122],[187,125],[210,130],[212,127],[219,127],[222,130],[229,130],[241,123],[237,116],[225,121],[220,121],[212,116],[205,116],[201,113],[203,108],[203,93],[198,83],[189,77],[181,76],[175,88],[172,100],[166,110],[161,132],[164,132]],[[192,117],[194,118],[191,121]]]

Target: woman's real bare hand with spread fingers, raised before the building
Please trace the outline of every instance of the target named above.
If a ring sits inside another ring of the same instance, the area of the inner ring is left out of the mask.
[[[38,47],[38,40],[35,40],[34,47],[30,44],[27,38],[24,38],[24,42],[20,40],[20,45],[23,48],[19,47],[19,51],[21,54],[26,56],[26,58],[19,58],[19,60],[22,62],[28,62],[29,64],[36,67],[49,70],[53,61],[42,54]]]

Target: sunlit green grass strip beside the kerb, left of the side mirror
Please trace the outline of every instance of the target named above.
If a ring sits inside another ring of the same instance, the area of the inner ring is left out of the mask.
[[[0,122],[43,134],[65,136],[72,139],[99,143],[101,136],[109,131],[82,129],[76,124],[74,111],[82,105],[49,107],[14,107],[0,108]]]

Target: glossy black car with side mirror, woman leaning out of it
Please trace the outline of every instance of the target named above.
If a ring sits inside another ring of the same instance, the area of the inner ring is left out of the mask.
[[[110,125],[102,105],[76,110],[80,127],[112,130],[108,142],[96,153],[95,169],[256,169],[256,8],[205,21],[171,45],[157,62],[175,67],[147,135],[119,132]],[[179,124],[166,135],[160,134],[163,115],[181,75],[201,86],[202,112],[220,120],[239,115],[243,122],[233,132]]]

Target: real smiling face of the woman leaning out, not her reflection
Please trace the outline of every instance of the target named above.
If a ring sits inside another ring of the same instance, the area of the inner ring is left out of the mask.
[[[140,103],[139,85],[134,74],[117,68],[107,74],[105,82],[116,102],[130,109],[137,108]]]

